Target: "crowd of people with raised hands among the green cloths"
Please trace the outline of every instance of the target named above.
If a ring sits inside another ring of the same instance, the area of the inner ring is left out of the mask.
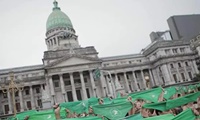
[[[198,88],[192,90],[192,91],[187,91],[187,92],[177,92],[176,94],[174,94],[173,96],[170,97],[170,100],[175,100],[177,98],[180,97],[184,97],[186,95],[192,94],[192,93],[197,93]],[[162,103],[167,101],[164,98],[164,94],[165,94],[165,90],[162,88],[162,92],[161,94],[159,94],[158,96],[158,103]],[[200,96],[198,96],[196,98],[196,100],[193,100],[189,103],[185,103],[181,106],[176,106],[174,108],[171,109],[167,109],[164,111],[158,110],[158,109],[152,109],[152,108],[145,108],[144,105],[145,104],[151,104],[151,101],[145,100],[145,99],[134,99],[132,96],[129,95],[125,95],[122,92],[120,93],[121,98],[126,98],[126,102],[129,102],[132,107],[129,111],[127,111],[127,114],[123,117],[126,116],[132,116],[132,115],[136,115],[136,114],[141,114],[141,116],[143,118],[148,118],[148,117],[155,117],[155,116],[160,116],[160,115],[165,115],[165,114],[172,114],[173,116],[177,116],[179,115],[181,112],[183,112],[184,110],[187,110],[188,108],[192,110],[193,114],[195,116],[199,116],[200,115]],[[113,100],[112,98],[110,98],[111,101]],[[104,102],[103,98],[99,98],[98,99],[98,105],[105,105],[107,103]],[[112,104],[112,103],[110,103]],[[102,115],[102,114],[98,114],[93,110],[93,106],[88,106],[88,111],[87,112],[83,112],[81,114],[77,114],[75,111],[71,111],[68,108],[65,108],[65,112],[66,112],[66,116],[61,116],[60,115],[60,111],[61,111],[61,106],[59,103],[56,103],[53,106],[54,109],[54,114],[55,114],[55,119],[56,120],[60,120],[60,119],[67,119],[67,118],[83,118],[83,117],[88,117],[88,116],[98,116],[103,120],[109,120],[108,117]],[[24,120],[29,120],[29,116],[26,116]],[[196,117],[196,120],[200,120],[198,117]]]

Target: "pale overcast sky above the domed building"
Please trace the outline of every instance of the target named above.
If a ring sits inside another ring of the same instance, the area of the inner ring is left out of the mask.
[[[42,64],[53,0],[0,0],[0,69]],[[99,57],[139,53],[172,15],[199,14],[199,0],[58,0],[82,47]]]

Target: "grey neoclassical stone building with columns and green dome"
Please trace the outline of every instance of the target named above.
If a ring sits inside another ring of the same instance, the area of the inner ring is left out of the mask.
[[[0,70],[1,116],[13,113],[11,93],[2,91],[11,71],[14,81],[24,86],[15,93],[18,112],[47,109],[47,103],[51,107],[56,102],[115,97],[119,90],[130,93],[179,84],[199,72],[189,40],[157,39],[138,54],[99,58],[95,47],[80,46],[71,20],[56,1],[47,19],[45,42],[43,64]]]

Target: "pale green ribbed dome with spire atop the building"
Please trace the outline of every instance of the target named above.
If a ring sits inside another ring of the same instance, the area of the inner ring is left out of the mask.
[[[49,15],[46,23],[47,31],[57,27],[68,27],[73,28],[71,20],[69,17],[63,13],[57,6],[57,2],[54,1],[53,12]]]

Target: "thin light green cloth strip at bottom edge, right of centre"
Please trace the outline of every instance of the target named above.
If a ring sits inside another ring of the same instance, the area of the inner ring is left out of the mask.
[[[172,114],[159,115],[154,117],[144,118],[143,120],[171,120],[174,118]]]

